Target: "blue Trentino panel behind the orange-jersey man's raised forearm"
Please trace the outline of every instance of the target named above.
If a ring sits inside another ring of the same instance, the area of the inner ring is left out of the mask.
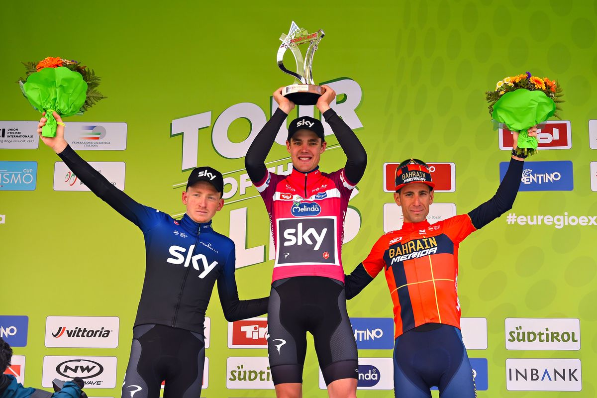
[[[510,162],[500,162],[500,181]],[[571,191],[574,178],[571,161],[525,162],[519,191]]]

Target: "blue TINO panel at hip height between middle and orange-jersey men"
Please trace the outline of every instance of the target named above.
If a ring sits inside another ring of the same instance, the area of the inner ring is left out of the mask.
[[[359,350],[392,350],[394,320],[392,318],[350,318]]]

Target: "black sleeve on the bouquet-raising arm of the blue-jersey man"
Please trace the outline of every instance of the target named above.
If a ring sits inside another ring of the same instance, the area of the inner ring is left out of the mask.
[[[122,192],[112,184],[99,171],[81,159],[69,145],[58,154],[66,166],[75,173],[98,198],[109,204],[113,209],[122,214],[127,220],[130,220],[138,227],[147,222],[145,206],[131,199],[126,193]]]

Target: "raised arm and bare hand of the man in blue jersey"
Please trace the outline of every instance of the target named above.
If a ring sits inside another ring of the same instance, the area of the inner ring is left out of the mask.
[[[45,115],[45,113],[44,113]],[[54,112],[54,118],[59,123],[62,123],[60,116]],[[95,193],[98,198],[108,203],[113,209],[122,214],[125,218],[136,224],[142,230],[150,228],[150,219],[148,217],[150,212],[155,212],[155,209],[147,208],[146,206],[137,203],[131,199],[130,196],[113,186],[106,177],[100,174],[99,171],[91,167],[85,162],[81,156],[69,146],[64,140],[64,126],[58,125],[56,129],[56,137],[43,137],[41,129],[47,122],[46,118],[41,118],[38,125],[39,137],[44,141],[44,144],[51,147],[54,152],[60,156],[66,166],[75,173],[91,192]]]

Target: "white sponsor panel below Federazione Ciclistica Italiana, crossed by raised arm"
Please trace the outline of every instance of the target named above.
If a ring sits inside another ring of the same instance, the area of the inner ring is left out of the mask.
[[[106,177],[119,190],[124,190],[124,162],[89,162],[90,166]],[[89,191],[90,189],[70,171],[64,162],[54,163],[55,191]]]

